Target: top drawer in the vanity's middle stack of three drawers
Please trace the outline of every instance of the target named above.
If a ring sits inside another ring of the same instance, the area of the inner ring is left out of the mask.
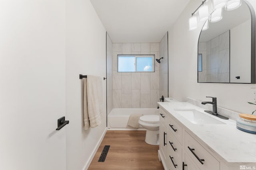
[[[172,117],[168,116],[168,129],[182,144],[182,127]]]

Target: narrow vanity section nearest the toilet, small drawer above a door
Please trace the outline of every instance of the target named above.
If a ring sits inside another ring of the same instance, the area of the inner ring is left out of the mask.
[[[167,113],[160,109],[160,125],[159,125],[159,151],[158,157],[159,160],[162,162],[164,168],[166,169],[168,166],[167,163],[167,155],[168,155],[168,145],[167,145]]]

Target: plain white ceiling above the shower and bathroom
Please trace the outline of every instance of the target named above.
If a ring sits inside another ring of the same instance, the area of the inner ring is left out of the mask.
[[[190,0],[90,0],[113,43],[158,43]]]

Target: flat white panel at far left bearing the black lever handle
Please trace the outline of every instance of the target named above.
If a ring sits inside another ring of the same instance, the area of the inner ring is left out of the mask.
[[[65,2],[0,5],[0,169],[65,170]]]

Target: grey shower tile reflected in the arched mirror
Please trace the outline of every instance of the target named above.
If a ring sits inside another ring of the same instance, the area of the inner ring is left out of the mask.
[[[229,82],[229,39],[230,31],[226,31],[208,42],[199,42],[202,72],[198,72],[198,82]]]

